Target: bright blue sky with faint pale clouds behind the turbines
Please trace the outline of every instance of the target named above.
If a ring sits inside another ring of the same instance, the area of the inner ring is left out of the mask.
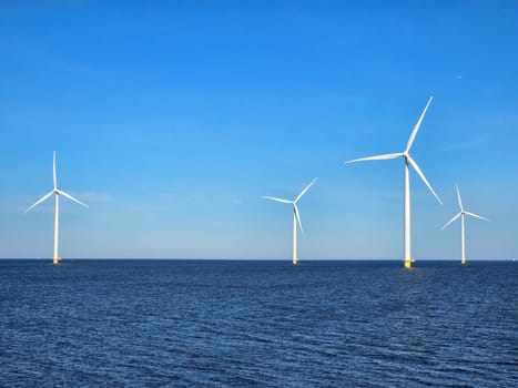
[[[518,255],[516,1],[0,2],[0,257],[402,258],[400,152],[416,258]]]

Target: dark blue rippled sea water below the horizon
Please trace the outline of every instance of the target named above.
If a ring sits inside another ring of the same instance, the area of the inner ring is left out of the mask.
[[[0,261],[0,386],[516,387],[517,268]]]

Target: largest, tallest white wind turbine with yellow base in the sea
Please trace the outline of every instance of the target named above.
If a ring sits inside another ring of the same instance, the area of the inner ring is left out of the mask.
[[[360,157],[360,159],[355,159],[353,161],[348,161],[347,163],[355,163],[355,162],[363,162],[363,161],[384,161],[388,159],[397,159],[397,157],[403,157],[405,160],[405,218],[404,218],[404,228],[405,228],[405,234],[404,234],[404,244],[405,244],[405,257],[404,263],[405,263],[405,268],[410,268],[412,267],[412,262],[413,262],[413,256],[412,256],[412,251],[410,251],[410,181],[409,181],[409,172],[408,172],[408,165],[412,165],[412,167],[416,171],[416,173],[420,176],[423,182],[425,182],[426,186],[429,188],[431,194],[437,198],[437,201],[443,204],[443,202],[439,200],[437,194],[435,193],[434,188],[431,188],[430,184],[426,180],[425,175],[420,171],[419,166],[417,163],[412,159],[410,156],[410,147],[412,144],[414,144],[414,140],[416,139],[417,131],[419,131],[420,123],[423,122],[423,119],[425,118],[426,111],[428,110],[428,106],[431,103],[431,100],[434,98],[430,96],[428,100],[428,103],[425,106],[425,110],[419,116],[419,120],[417,120],[416,125],[414,126],[414,131],[412,131],[410,137],[408,139],[408,142],[406,144],[406,149],[403,152],[394,153],[394,154],[384,154],[384,155],[377,155],[377,156],[369,156],[369,157]]]

